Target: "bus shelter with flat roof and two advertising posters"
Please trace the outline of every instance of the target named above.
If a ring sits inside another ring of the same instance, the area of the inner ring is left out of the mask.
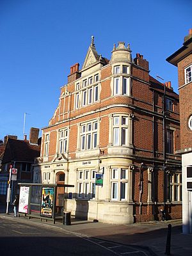
[[[19,214],[55,223],[57,192],[63,188],[64,207],[65,188],[69,187],[74,185],[19,183]]]

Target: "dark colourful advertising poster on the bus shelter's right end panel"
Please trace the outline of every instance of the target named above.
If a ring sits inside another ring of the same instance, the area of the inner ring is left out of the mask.
[[[42,188],[41,216],[52,218],[52,205],[54,199],[54,188]]]

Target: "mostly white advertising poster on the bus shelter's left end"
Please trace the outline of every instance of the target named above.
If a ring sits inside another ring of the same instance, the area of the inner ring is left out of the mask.
[[[19,192],[19,212],[28,213],[29,187],[21,186]]]

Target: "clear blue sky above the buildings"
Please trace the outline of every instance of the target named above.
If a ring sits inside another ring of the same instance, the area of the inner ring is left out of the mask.
[[[149,61],[150,75],[172,81],[177,68],[166,58],[192,28],[192,1],[0,1],[0,139],[23,138],[49,124],[70,66],[83,65],[95,36],[97,52],[110,59],[113,44],[130,43]]]

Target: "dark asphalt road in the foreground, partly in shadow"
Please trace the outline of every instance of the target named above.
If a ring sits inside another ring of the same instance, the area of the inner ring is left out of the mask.
[[[130,246],[0,218],[1,256],[108,256],[126,254],[147,255],[145,252]]]

